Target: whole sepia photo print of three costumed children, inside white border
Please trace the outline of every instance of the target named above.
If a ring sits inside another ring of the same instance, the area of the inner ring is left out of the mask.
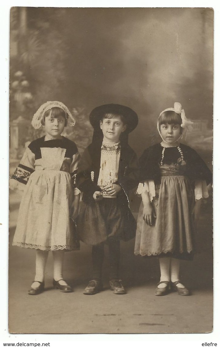
[[[213,26],[11,7],[11,335],[213,331]]]

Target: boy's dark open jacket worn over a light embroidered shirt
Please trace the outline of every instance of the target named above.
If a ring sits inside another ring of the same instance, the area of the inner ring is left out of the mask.
[[[86,203],[94,202],[93,194],[101,191],[97,185],[101,161],[101,143],[91,143],[84,151],[79,162],[76,176],[76,186],[83,192],[82,200]],[[91,179],[91,172],[94,179]],[[128,144],[121,144],[121,154],[118,168],[118,181],[115,182],[122,187],[118,194],[121,203],[129,206],[128,192],[138,185],[139,169],[137,156]]]

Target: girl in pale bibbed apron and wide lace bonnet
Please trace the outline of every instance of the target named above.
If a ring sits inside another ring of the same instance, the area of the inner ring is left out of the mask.
[[[13,245],[36,249],[31,295],[44,290],[48,251],[53,254],[54,288],[72,291],[63,279],[62,265],[65,251],[79,249],[74,222],[80,197],[75,185],[79,153],[73,141],[61,136],[67,124],[74,126],[75,119],[62,102],[41,105],[32,126],[43,125],[45,136],[29,144],[10,180],[12,189],[24,189]]]

